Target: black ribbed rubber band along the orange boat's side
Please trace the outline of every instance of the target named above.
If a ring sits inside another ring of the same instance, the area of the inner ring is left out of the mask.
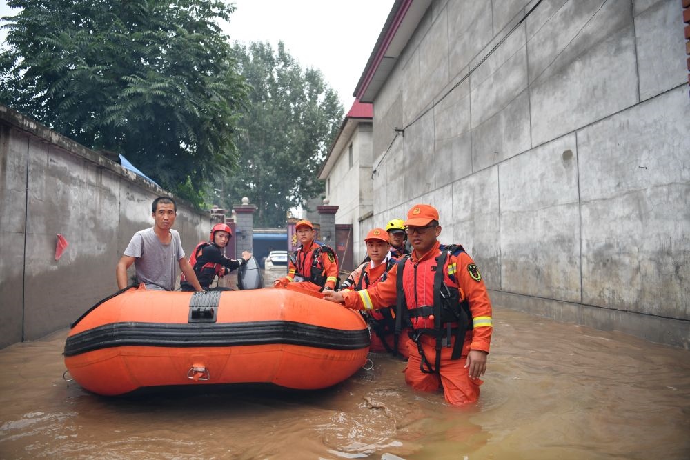
[[[229,347],[284,343],[331,350],[358,350],[369,346],[369,332],[340,330],[292,321],[250,323],[112,323],[68,337],[66,357],[101,348]]]

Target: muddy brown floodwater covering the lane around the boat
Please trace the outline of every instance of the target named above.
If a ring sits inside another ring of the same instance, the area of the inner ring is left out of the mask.
[[[0,350],[0,458],[690,458],[689,351],[513,310],[494,318],[470,408],[411,390],[404,363],[383,354],[327,390],[99,397],[63,380],[67,330],[17,343]]]

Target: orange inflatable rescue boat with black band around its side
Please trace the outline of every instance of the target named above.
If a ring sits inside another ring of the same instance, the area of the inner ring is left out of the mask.
[[[326,388],[364,365],[369,333],[358,312],[319,297],[130,288],[72,324],[65,364],[79,385],[104,395],[213,383]]]

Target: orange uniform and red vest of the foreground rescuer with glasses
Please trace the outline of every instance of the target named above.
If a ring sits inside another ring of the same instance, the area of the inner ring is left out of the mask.
[[[402,288],[405,291],[408,310],[433,305],[433,273],[435,258],[441,253],[440,243],[436,242],[431,250],[421,257],[413,251],[404,268]],[[467,330],[460,359],[451,359],[455,337],[451,337],[451,346],[441,349],[440,368],[434,373],[422,372],[422,356],[417,343],[408,342],[409,360],[404,370],[405,381],[417,390],[434,391],[443,388],[444,397],[449,403],[460,406],[477,400],[482,384],[480,379],[470,379],[464,367],[467,353],[470,350],[489,352],[493,323],[491,319],[491,301],[486,286],[472,258],[464,252],[449,254],[444,265],[444,281],[449,286],[457,286],[460,301],[466,299],[471,313],[472,329]],[[388,278],[372,288],[359,292],[343,291],[345,306],[356,310],[376,310],[381,306],[390,306],[396,301],[397,265],[388,272]],[[415,328],[433,328],[433,319],[413,318]],[[445,327],[445,325],[443,325]],[[446,338],[442,339],[444,344]],[[426,361],[435,364],[436,338],[421,334],[419,343]]]

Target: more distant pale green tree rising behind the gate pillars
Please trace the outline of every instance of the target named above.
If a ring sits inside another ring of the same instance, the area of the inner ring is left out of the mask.
[[[251,86],[250,103],[240,121],[239,170],[218,188],[233,203],[246,196],[257,205],[257,226],[284,226],[290,208],[323,193],[316,174],[344,110],[321,72],[302,71],[284,43],[277,52],[269,43],[236,44],[234,50]]]

